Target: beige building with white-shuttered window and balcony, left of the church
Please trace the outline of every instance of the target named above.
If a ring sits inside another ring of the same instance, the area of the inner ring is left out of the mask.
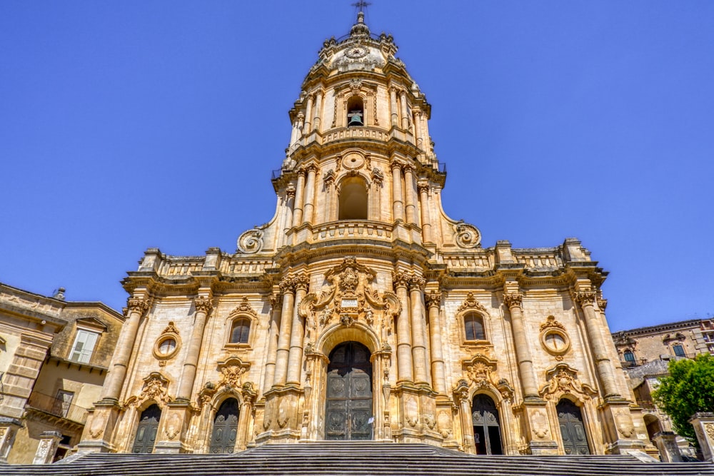
[[[59,460],[99,399],[124,317],[0,283],[0,462]]]

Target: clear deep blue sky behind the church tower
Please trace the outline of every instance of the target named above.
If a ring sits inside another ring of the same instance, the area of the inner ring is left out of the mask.
[[[149,247],[273,216],[288,109],[349,0],[0,3],[0,281],[121,309]],[[577,237],[613,330],[714,313],[714,1],[373,0],[483,246]]]

